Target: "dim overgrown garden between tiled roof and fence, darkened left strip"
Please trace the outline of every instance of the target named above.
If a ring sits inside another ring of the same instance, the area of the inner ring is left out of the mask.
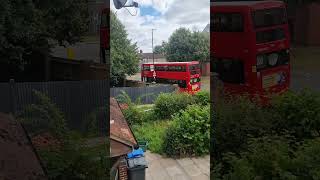
[[[101,137],[98,113],[89,113],[81,129],[70,128],[65,115],[44,93],[18,115],[43,164],[48,179],[109,179],[107,141]]]

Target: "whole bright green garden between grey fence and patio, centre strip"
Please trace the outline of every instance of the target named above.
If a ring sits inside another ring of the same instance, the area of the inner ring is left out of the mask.
[[[137,140],[148,141],[148,150],[167,157],[209,154],[209,93],[162,93],[154,104],[133,102],[127,94],[117,97]]]

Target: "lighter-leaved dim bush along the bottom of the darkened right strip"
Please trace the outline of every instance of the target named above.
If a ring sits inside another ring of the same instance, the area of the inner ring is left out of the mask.
[[[214,166],[214,179],[319,179],[320,141],[311,140],[292,147],[293,139],[262,137],[249,142],[249,151],[226,155],[231,166],[228,173],[221,172],[221,164]],[[296,144],[297,145],[297,144]]]

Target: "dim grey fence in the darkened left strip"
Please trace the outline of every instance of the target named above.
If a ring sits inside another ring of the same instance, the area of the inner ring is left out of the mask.
[[[90,113],[99,111],[103,130],[107,126],[108,88],[106,80],[0,83],[0,112],[18,113],[37,103],[33,93],[37,90],[47,94],[64,113],[69,127],[81,129]]]

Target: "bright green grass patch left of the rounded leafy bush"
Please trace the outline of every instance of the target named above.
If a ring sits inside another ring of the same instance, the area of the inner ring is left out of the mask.
[[[148,150],[154,153],[162,154],[162,144],[167,128],[171,121],[153,121],[142,125],[134,125],[132,131],[138,140],[147,140]]]

